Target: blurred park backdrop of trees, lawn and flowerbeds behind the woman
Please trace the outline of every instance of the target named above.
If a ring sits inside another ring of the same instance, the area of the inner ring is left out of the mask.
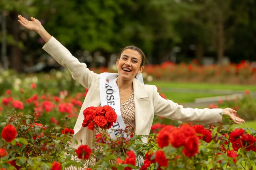
[[[117,53],[135,45],[149,61],[145,83],[162,97],[185,107],[231,107],[256,128],[255,9],[255,0],[1,0],[0,113],[11,112],[16,98],[24,113],[49,114],[45,122],[71,114],[73,127],[87,92],[19,24],[21,14],[40,20],[97,73],[116,72]]]

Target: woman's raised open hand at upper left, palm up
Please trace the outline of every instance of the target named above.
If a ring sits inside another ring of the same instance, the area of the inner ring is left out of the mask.
[[[31,17],[31,21],[28,21],[21,15],[18,15],[19,22],[23,25],[26,29],[38,32],[43,26],[40,21]]]

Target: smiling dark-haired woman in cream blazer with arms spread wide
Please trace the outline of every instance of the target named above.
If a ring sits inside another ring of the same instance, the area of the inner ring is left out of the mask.
[[[83,110],[89,106],[97,107],[102,104],[100,99],[100,90],[102,90],[102,87],[100,87],[101,76],[90,71],[86,64],[80,63],[74,56],[72,56],[65,47],[43,28],[40,21],[33,17],[31,17],[31,21],[28,21],[21,15],[19,15],[18,18],[21,25],[28,30],[36,31],[43,38],[46,42],[43,49],[52,55],[58,63],[68,68],[74,80],[80,82],[83,87],[89,89],[74,127],[74,137],[79,143],[78,145],[72,144],[71,147],[77,148],[80,146],[81,140],[82,144],[91,145],[92,141],[95,139],[95,133],[82,127]],[[242,124],[242,122],[244,122],[243,119],[234,115],[236,111],[231,108],[183,108],[183,106],[180,106],[171,100],[166,100],[160,97],[156,86],[144,85],[135,78],[137,74],[143,71],[143,65],[146,61],[144,53],[139,48],[126,47],[122,50],[116,62],[118,76],[115,77],[115,81],[119,89],[118,97],[120,97],[120,103],[118,105],[121,105],[121,114],[126,107],[132,106],[132,109],[128,109],[126,115],[122,114],[126,126],[132,123],[135,126],[135,130],[131,129],[130,131],[134,131],[136,134],[140,135],[148,135],[152,126],[154,114],[173,120],[204,124],[221,122],[223,114],[230,116],[230,119],[233,120],[234,123]],[[102,80],[103,79],[101,78],[101,81]],[[109,80],[106,79],[106,81],[108,82]],[[107,87],[109,86],[106,86],[105,88],[107,89]],[[127,100],[131,100],[132,104],[125,106],[124,109],[122,109],[122,105],[125,104]],[[132,118],[125,120],[127,115]],[[132,121],[129,121],[131,119]],[[128,122],[128,124],[126,122]]]

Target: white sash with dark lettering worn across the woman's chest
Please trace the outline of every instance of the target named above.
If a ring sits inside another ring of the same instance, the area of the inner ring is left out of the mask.
[[[109,72],[103,72],[100,74],[100,104],[101,106],[111,106],[117,114],[117,122],[108,129],[112,139],[115,139],[116,136],[120,134],[119,129],[125,130],[126,127],[121,116],[119,88],[116,83],[117,76],[117,73]],[[143,83],[141,73],[137,74],[136,78]],[[126,134],[125,137],[129,137],[129,135]]]

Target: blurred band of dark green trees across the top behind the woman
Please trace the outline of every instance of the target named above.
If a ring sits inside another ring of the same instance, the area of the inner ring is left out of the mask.
[[[44,41],[17,21],[45,29],[90,67],[108,67],[125,46],[140,47],[151,64],[240,63],[256,60],[254,0],[1,0],[1,67],[18,72],[59,67]]]

